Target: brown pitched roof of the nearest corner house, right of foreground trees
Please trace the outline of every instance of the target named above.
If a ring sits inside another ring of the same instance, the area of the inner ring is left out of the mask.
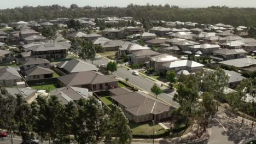
[[[118,103],[123,105],[127,111],[135,116],[147,115],[148,113],[156,115],[174,109],[173,107],[168,106],[159,100],[149,98],[146,94],[140,92],[120,94],[111,98],[118,101]]]

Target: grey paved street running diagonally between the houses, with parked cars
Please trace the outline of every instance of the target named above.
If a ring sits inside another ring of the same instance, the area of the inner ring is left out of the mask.
[[[101,65],[101,64],[107,65],[107,63],[108,61],[103,58],[97,58],[97,60],[94,61],[95,65]],[[117,71],[114,71],[113,75],[121,77],[122,79],[128,78],[129,82],[132,83],[133,85],[143,89],[148,93],[152,93],[150,91],[150,88],[154,85],[154,81],[146,79],[142,76],[132,75],[132,70],[127,70],[123,67],[119,67]],[[170,92],[170,90],[166,87],[162,87],[162,89],[164,93],[158,95],[158,98],[166,101],[167,103],[171,104],[174,107],[178,107],[179,106],[178,103],[172,100],[175,92]]]

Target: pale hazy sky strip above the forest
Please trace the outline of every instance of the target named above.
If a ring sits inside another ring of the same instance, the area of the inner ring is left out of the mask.
[[[23,5],[52,5],[59,4],[69,7],[72,3],[79,6],[119,6],[126,7],[128,4],[145,5],[170,4],[179,7],[208,7],[211,5],[227,5],[228,7],[256,7],[256,0],[0,0],[0,9],[22,7]]]

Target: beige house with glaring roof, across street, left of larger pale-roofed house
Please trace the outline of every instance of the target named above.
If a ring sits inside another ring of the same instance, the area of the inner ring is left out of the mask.
[[[158,56],[150,57],[148,67],[154,68],[155,71],[158,71],[162,68],[162,64],[177,60],[179,60],[179,58],[164,53]]]

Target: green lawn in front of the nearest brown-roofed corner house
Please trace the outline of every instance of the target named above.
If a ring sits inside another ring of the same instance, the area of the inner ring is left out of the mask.
[[[153,122],[148,122],[144,124],[138,124],[130,121],[129,126],[132,129],[133,135],[153,135]],[[155,135],[163,134],[167,130],[161,127],[158,123],[155,123]]]

